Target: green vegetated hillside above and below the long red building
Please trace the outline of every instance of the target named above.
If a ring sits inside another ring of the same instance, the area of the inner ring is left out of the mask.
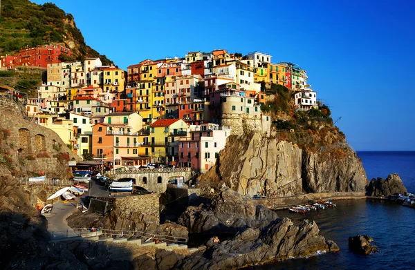
[[[26,46],[50,44],[71,49],[72,57],[65,55],[62,61],[100,57],[103,65],[113,65],[113,61],[85,44],[73,16],[53,3],[37,5],[28,0],[1,1],[0,34],[0,55],[14,55]],[[29,94],[42,81],[46,81],[46,77],[42,78],[42,73],[30,68],[0,73],[0,84]]]

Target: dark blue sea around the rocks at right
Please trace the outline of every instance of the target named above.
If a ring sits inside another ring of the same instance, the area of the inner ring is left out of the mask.
[[[398,173],[408,192],[415,193],[415,151],[358,151],[369,180],[386,179]],[[340,247],[338,253],[326,253],[296,260],[273,262],[250,269],[415,269],[415,209],[382,200],[340,200],[334,209],[307,214],[277,211],[295,224],[314,220],[320,234]],[[348,247],[352,235],[374,238],[377,253],[359,255]]]

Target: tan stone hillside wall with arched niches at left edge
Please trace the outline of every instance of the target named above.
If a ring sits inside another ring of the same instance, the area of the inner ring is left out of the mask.
[[[15,176],[32,177],[43,170],[50,177],[67,179],[67,160],[52,157],[68,155],[69,160],[80,160],[80,157],[64,144],[57,133],[26,117],[23,104],[0,97],[0,106],[0,128],[10,133],[3,146],[13,160],[10,168],[15,171]]]

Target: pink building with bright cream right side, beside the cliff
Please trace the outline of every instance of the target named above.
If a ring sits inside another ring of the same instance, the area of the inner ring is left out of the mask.
[[[179,140],[178,162],[180,166],[191,166],[196,171],[205,173],[216,164],[216,158],[225,148],[229,135],[230,127],[217,124],[190,126],[187,129],[187,137]]]

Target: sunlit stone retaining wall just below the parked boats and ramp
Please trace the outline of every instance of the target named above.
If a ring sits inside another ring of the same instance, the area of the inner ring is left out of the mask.
[[[142,215],[153,215],[160,223],[158,194],[117,197],[117,209],[121,212],[140,212]]]

